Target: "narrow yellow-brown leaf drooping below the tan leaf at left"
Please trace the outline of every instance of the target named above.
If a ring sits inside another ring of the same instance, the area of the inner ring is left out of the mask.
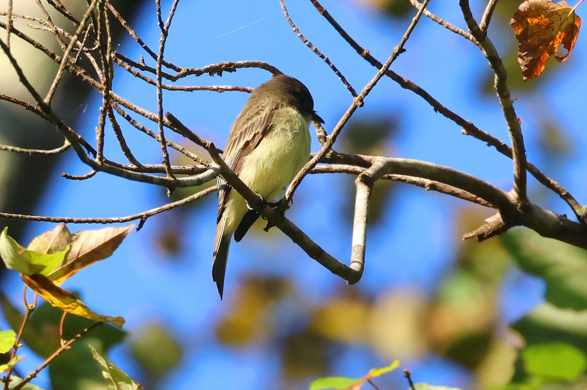
[[[51,306],[59,307],[65,312],[76,316],[86,317],[90,320],[111,322],[118,327],[124,324],[123,317],[109,317],[97,314],[89,309],[81,300],[77,299],[71,292],[64,290],[49,280],[46,276],[34,273],[33,275],[21,275],[22,280],[35,293],[45,299]]]

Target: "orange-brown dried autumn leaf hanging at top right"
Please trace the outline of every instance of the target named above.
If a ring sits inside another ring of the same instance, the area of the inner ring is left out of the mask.
[[[518,62],[524,81],[540,76],[546,60],[556,54],[563,45],[565,56],[555,56],[562,62],[571,54],[581,18],[565,1],[555,3],[549,0],[526,0],[510,20],[518,39]]]

